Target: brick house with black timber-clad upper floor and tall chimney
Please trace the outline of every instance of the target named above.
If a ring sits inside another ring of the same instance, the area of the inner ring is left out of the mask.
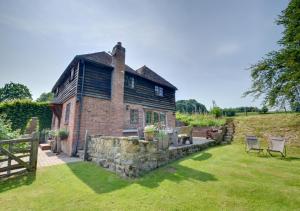
[[[126,65],[125,48],[118,42],[111,55],[77,55],[67,66],[52,89],[52,129],[69,131],[62,151],[75,155],[86,131],[127,136],[148,124],[172,128],[176,90],[148,67]]]

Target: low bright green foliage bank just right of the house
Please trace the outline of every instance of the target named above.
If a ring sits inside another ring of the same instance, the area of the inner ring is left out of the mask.
[[[224,118],[216,119],[212,115],[208,114],[183,114],[176,113],[176,120],[183,122],[185,125],[190,125],[194,127],[204,127],[204,126],[222,126],[226,123]]]

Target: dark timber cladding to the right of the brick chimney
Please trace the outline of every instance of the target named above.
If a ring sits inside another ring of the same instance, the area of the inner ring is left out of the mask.
[[[152,81],[144,79],[139,76],[135,76],[130,73],[125,75],[133,76],[135,81],[134,89],[124,87],[124,102],[132,104],[140,104],[143,106],[164,109],[175,110],[175,90],[156,84]],[[163,96],[156,96],[154,93],[155,86],[163,88]]]

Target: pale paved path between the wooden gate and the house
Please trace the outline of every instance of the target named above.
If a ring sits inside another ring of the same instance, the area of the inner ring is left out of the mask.
[[[59,155],[56,155],[56,153],[53,153],[50,150],[42,151],[39,148],[37,167],[41,168],[45,166],[53,166],[53,165],[72,163],[78,161],[82,161],[82,160],[76,157],[69,157],[64,153],[60,153]]]

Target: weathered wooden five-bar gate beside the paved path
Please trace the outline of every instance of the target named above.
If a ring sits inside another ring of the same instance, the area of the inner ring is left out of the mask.
[[[26,138],[0,140],[0,179],[36,171],[38,145],[37,134]]]

